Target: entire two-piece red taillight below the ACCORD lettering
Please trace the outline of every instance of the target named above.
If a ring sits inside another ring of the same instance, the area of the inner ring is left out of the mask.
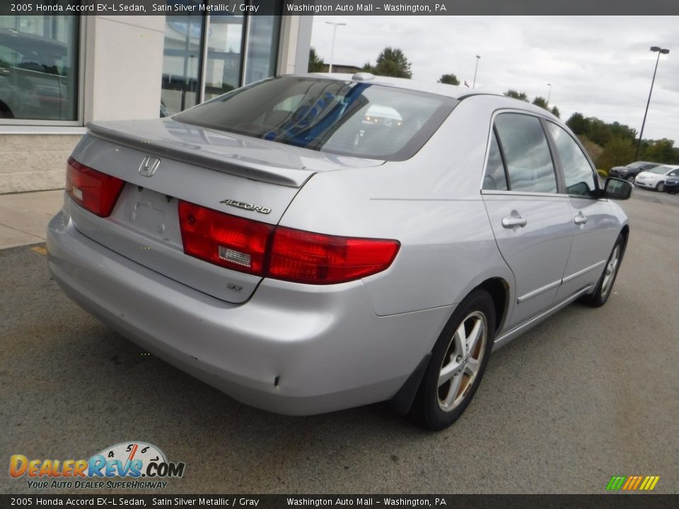
[[[333,284],[381,272],[397,240],[311,233],[179,202],[184,252],[240,272],[296,283]]]

